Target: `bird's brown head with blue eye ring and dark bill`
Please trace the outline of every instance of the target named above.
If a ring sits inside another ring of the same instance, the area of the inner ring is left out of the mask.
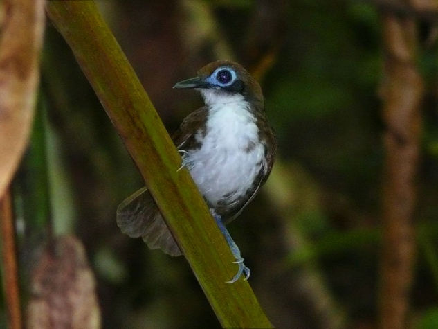
[[[240,64],[226,60],[211,62],[198,71],[197,77],[178,82],[174,88],[199,90],[207,105],[242,100],[263,104],[257,81]]]

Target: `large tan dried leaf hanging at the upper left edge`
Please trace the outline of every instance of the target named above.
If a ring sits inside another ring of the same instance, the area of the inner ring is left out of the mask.
[[[39,78],[44,0],[5,0],[0,39],[0,197],[28,140]]]

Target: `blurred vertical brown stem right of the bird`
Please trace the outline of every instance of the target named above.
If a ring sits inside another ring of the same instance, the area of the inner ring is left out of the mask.
[[[381,328],[406,328],[415,256],[413,212],[419,159],[423,82],[415,65],[417,26],[383,17],[385,80],[381,89],[386,159],[381,255]]]

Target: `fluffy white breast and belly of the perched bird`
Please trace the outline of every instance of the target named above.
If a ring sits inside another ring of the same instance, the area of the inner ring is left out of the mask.
[[[224,197],[232,204],[253,186],[264,165],[258,132],[244,100],[210,105],[201,148],[189,151],[187,157],[195,183],[212,206]]]

